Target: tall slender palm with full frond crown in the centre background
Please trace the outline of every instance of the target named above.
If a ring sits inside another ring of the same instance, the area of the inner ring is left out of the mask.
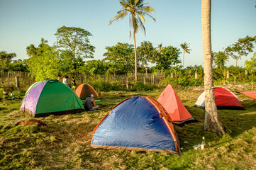
[[[117,15],[114,16],[111,21],[109,21],[109,25],[113,23],[113,21],[118,21],[118,19],[123,19],[125,16],[130,14],[129,26],[133,28],[133,43],[134,43],[134,53],[135,53],[135,81],[137,81],[137,52],[136,52],[136,42],[135,42],[135,33],[138,33],[139,28],[141,28],[145,35],[145,27],[143,23],[145,23],[144,16],[150,16],[149,13],[155,13],[154,9],[151,6],[147,6],[148,3],[143,2],[144,0],[121,0],[119,1],[122,6],[121,10],[118,11]],[[155,18],[150,16],[154,21]],[[109,26],[108,25],[108,26]],[[131,36],[131,34],[130,34]]]

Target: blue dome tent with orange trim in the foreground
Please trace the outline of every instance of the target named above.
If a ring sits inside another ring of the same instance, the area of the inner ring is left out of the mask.
[[[96,126],[91,147],[181,154],[172,120],[155,99],[126,98]]]

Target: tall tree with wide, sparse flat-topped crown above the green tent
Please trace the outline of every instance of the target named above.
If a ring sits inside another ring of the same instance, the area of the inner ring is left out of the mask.
[[[72,57],[70,62],[76,64],[76,60],[83,58],[93,58],[95,47],[90,44],[89,36],[92,36],[89,31],[77,27],[62,26],[57,29],[57,47],[67,50],[65,54],[69,53]],[[62,51],[63,52],[63,51]],[[75,72],[77,66],[70,70]]]

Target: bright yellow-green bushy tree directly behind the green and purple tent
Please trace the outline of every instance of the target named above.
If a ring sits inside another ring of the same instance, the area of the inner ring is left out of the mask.
[[[35,77],[36,81],[56,79],[60,72],[60,58],[57,50],[47,43],[48,41],[42,38],[38,47],[34,45],[27,47],[27,54],[30,58],[26,60],[26,64],[28,64],[30,75]]]

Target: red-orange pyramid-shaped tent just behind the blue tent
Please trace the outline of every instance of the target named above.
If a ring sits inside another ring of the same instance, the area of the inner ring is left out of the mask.
[[[157,101],[164,106],[173,123],[182,126],[183,123],[197,122],[187,111],[170,84],[162,91]]]

